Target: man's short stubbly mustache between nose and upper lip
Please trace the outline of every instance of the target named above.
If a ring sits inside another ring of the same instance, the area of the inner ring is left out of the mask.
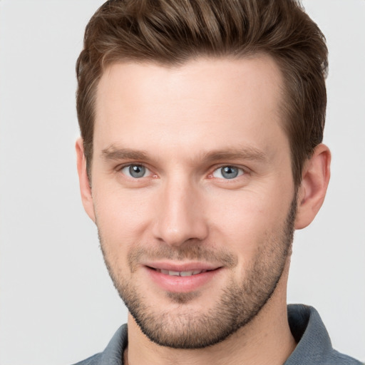
[[[196,260],[228,268],[235,267],[238,264],[237,256],[231,252],[216,250],[202,244],[187,244],[179,247],[171,247],[166,244],[159,244],[158,247],[136,246],[128,252],[128,264],[132,271],[140,262],[163,259],[174,261]]]

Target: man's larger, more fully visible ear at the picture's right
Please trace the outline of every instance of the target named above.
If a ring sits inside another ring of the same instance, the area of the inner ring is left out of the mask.
[[[298,190],[296,230],[307,227],[322,207],[329,183],[330,164],[331,153],[327,145],[317,145],[302,172],[302,183]]]

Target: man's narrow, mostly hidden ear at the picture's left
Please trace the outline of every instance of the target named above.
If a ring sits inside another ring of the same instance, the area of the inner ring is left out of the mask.
[[[76,157],[77,157],[77,171],[78,181],[80,183],[81,200],[83,201],[83,208],[91,220],[95,222],[95,212],[93,206],[93,195],[91,193],[91,184],[88,180],[88,173],[86,171],[86,158],[83,152],[83,139],[76,140]]]

